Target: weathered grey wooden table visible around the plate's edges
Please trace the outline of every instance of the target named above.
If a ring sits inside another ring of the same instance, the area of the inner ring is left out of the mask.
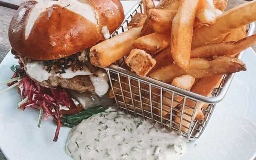
[[[0,63],[11,48],[8,40],[8,27],[12,16],[15,14],[15,9],[19,7],[22,1],[24,0],[0,0]],[[243,1],[236,0],[235,3],[240,4],[241,2]],[[253,49],[256,51],[256,45],[253,46]],[[0,160],[6,160],[1,151]]]

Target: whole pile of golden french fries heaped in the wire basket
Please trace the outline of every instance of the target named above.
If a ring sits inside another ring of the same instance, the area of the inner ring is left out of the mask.
[[[104,68],[126,57],[127,66],[139,76],[203,96],[211,95],[224,74],[246,70],[236,55],[256,43],[256,35],[246,35],[246,25],[256,21],[256,0],[226,12],[227,0],[162,0],[157,6],[153,0],[143,0],[143,6],[144,14],[133,17],[129,30],[91,48],[92,64]],[[174,99],[183,102],[181,96]],[[192,114],[194,103],[187,100],[191,107],[184,112]],[[195,119],[204,119],[204,106],[197,104]],[[182,125],[189,126],[187,121]]]

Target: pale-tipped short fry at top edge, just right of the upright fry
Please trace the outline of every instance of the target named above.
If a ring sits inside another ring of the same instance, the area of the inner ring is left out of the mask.
[[[196,18],[207,25],[212,25],[216,22],[216,13],[213,0],[200,0],[198,3]]]

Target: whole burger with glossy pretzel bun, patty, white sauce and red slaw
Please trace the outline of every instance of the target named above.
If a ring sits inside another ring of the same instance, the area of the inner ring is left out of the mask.
[[[54,141],[61,115],[86,107],[83,93],[107,93],[107,75],[90,63],[89,49],[110,38],[123,19],[119,0],[30,0],[12,18],[9,40],[19,66],[12,77],[18,81],[9,85],[19,88],[20,109],[32,107],[44,119],[54,118]]]

